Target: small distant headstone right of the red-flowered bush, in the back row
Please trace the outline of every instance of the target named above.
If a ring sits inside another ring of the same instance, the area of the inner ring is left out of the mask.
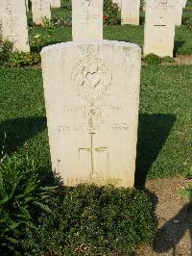
[[[140,0],[122,0],[121,24],[139,25]]]

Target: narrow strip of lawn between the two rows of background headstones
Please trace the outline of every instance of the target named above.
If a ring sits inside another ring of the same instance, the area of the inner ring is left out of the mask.
[[[45,28],[32,28],[30,29],[30,38],[36,35],[44,36],[41,47],[72,40],[72,31],[70,27],[56,27],[50,33]],[[110,40],[123,40],[138,44],[140,47],[143,45],[144,26],[105,26],[104,38]],[[175,54],[192,54],[192,30],[188,30],[186,26],[181,26],[176,29],[175,38]]]

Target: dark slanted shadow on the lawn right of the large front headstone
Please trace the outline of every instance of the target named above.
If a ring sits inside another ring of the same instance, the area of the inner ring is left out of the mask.
[[[175,115],[139,115],[134,186],[145,188],[147,174],[175,123]]]

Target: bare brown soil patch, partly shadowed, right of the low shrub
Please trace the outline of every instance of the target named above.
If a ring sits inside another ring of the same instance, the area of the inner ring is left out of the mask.
[[[192,256],[192,204],[179,190],[189,181],[181,177],[148,181],[146,192],[151,196],[158,229],[152,244],[135,252],[137,256]]]

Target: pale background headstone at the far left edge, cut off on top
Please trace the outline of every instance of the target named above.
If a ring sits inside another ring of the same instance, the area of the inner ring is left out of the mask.
[[[13,42],[13,49],[29,52],[25,1],[0,0],[0,24],[4,39]]]

